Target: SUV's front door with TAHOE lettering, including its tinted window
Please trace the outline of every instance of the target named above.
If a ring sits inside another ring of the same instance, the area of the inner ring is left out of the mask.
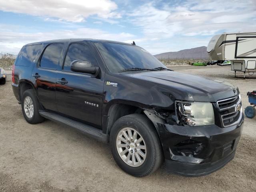
[[[101,127],[103,77],[92,78],[90,74],[72,72],[70,64],[74,60],[88,60],[93,66],[98,67],[88,44],[69,44],[63,66],[58,71],[56,79],[58,112]]]

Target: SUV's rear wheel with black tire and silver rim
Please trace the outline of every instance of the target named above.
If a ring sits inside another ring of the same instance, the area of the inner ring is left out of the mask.
[[[31,104],[31,102],[32,102],[32,104]],[[25,108],[28,108],[28,106],[30,109],[33,108],[33,112],[29,113],[25,109]],[[40,114],[38,112],[40,105],[39,105],[38,99],[34,93],[34,90],[28,89],[23,93],[21,107],[22,107],[23,116],[28,123],[37,124],[37,123],[41,123],[45,120],[45,118],[40,116]],[[27,114],[26,114],[25,110],[26,110],[26,112],[28,112]]]

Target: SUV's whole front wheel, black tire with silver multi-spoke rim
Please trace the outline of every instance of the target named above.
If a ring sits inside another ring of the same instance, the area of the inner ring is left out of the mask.
[[[126,132],[126,136],[128,136],[128,139],[125,139],[126,142],[122,141],[125,138],[124,135],[122,140],[118,137],[123,134],[121,130]],[[130,134],[128,134],[128,130],[131,130]],[[135,132],[137,132],[136,136],[134,136]],[[130,143],[128,143],[128,140]],[[142,142],[136,144],[139,140],[142,140]],[[118,147],[121,145],[126,147]],[[110,132],[110,147],[118,166],[132,176],[143,177],[153,173],[161,166],[163,161],[162,146],[156,128],[142,114],[123,116],[114,123]],[[121,152],[125,150],[128,150],[127,154],[122,155]],[[140,154],[146,155],[145,158]],[[124,158],[126,158],[127,162],[125,162]],[[141,162],[138,158],[140,158]],[[134,159],[134,163],[132,159]]]

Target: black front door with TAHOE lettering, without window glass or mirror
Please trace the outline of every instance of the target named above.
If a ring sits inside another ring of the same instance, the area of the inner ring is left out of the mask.
[[[65,44],[64,49],[66,53],[63,56],[63,60],[65,60],[65,55],[68,52],[70,43],[71,42],[67,42]],[[96,128],[101,128],[105,68],[102,66],[98,53],[94,50],[92,44],[89,42],[72,42],[72,44],[82,44],[90,48],[89,50],[94,55],[98,66],[100,66],[100,74],[98,74],[96,78],[92,78],[90,74],[65,71],[62,70],[62,65],[59,66],[56,78],[56,103],[58,113],[90,124]],[[61,84],[58,82],[58,80],[61,79],[65,79],[67,83]]]

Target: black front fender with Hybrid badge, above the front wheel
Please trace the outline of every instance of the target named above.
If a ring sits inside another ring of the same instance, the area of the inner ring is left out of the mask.
[[[175,97],[165,86],[155,82],[147,83],[138,78],[130,78],[106,71],[102,116],[108,115],[112,104],[127,104],[140,108],[165,108],[174,110]]]

